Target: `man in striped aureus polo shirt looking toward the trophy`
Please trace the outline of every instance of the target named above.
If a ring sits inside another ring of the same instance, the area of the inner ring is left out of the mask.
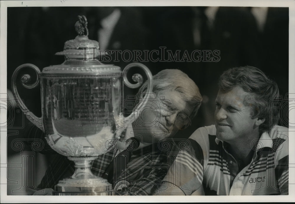
[[[225,71],[215,125],[190,136],[190,149],[179,153],[157,194],[288,194],[288,128],[276,126],[279,112],[270,106],[278,94],[258,68]]]

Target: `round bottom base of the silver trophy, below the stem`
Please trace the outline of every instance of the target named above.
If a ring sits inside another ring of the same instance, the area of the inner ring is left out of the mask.
[[[60,180],[52,193],[53,195],[113,195],[112,184],[99,177]]]

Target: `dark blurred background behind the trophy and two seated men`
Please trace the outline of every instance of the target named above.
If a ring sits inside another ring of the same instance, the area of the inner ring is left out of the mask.
[[[65,41],[77,36],[74,24],[78,15],[86,16],[89,39],[99,41],[102,50],[160,51],[163,46],[172,53],[180,50],[181,58],[185,51],[189,54],[194,50],[220,51],[218,62],[143,62],[153,75],[166,68],[178,68],[201,91],[204,101],[191,127],[175,137],[188,138],[197,128],[214,123],[217,80],[228,68],[245,65],[260,68],[278,83],[282,98],[288,93],[289,8],[274,7],[8,7],[8,89],[11,90],[13,71],[23,63],[35,64],[41,71],[63,63],[63,56],[54,54],[63,50]],[[107,63],[123,70],[131,62]],[[40,117],[40,86],[28,90],[19,85],[18,90],[29,110]],[[126,94],[137,92],[126,87],[125,90],[125,98]],[[13,99],[12,93],[9,97]],[[11,127],[18,131],[7,138],[8,155],[17,158],[19,152],[10,144],[23,137],[30,122],[22,114],[8,114],[8,118],[14,118]],[[285,122],[280,124],[286,126],[288,115],[284,118]],[[25,149],[30,151],[28,146]],[[47,168],[46,160],[50,160],[38,157],[45,162],[36,170],[40,172],[37,184]]]

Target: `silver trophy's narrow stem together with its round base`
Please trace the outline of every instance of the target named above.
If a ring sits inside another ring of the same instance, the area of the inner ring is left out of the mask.
[[[60,180],[53,195],[113,195],[112,184],[93,175],[91,161],[97,157],[68,157],[75,162],[75,173],[71,178]]]

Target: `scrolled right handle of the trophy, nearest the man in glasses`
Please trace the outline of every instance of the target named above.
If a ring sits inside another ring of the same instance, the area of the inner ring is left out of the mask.
[[[152,93],[153,91],[153,75],[150,72],[150,70],[148,69],[147,66],[143,65],[142,63],[138,63],[138,62],[133,62],[128,64],[124,70],[123,70],[123,79],[124,79],[124,83],[126,84],[126,86],[128,86],[129,88],[138,88],[142,85],[143,82],[143,78],[140,74],[134,74],[132,76],[132,80],[137,82],[135,84],[132,84],[128,81],[127,79],[127,72],[129,71],[130,68],[132,67],[140,67],[143,69],[143,71],[145,71],[145,74],[148,77],[148,87],[147,87],[147,92],[146,93]],[[140,105],[144,105],[145,103],[147,103],[146,98],[148,97],[148,94],[145,94],[144,98],[142,98]],[[133,110],[133,112],[127,116],[126,118],[124,118],[124,122],[125,123],[131,123],[133,122],[136,118],[138,117],[138,114],[135,113],[135,110]]]

